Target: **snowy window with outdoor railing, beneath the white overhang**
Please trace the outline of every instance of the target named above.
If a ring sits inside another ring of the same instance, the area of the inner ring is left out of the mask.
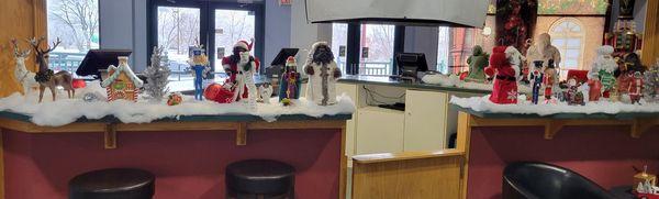
[[[389,76],[393,71],[395,26],[362,24],[359,51],[359,74]]]

